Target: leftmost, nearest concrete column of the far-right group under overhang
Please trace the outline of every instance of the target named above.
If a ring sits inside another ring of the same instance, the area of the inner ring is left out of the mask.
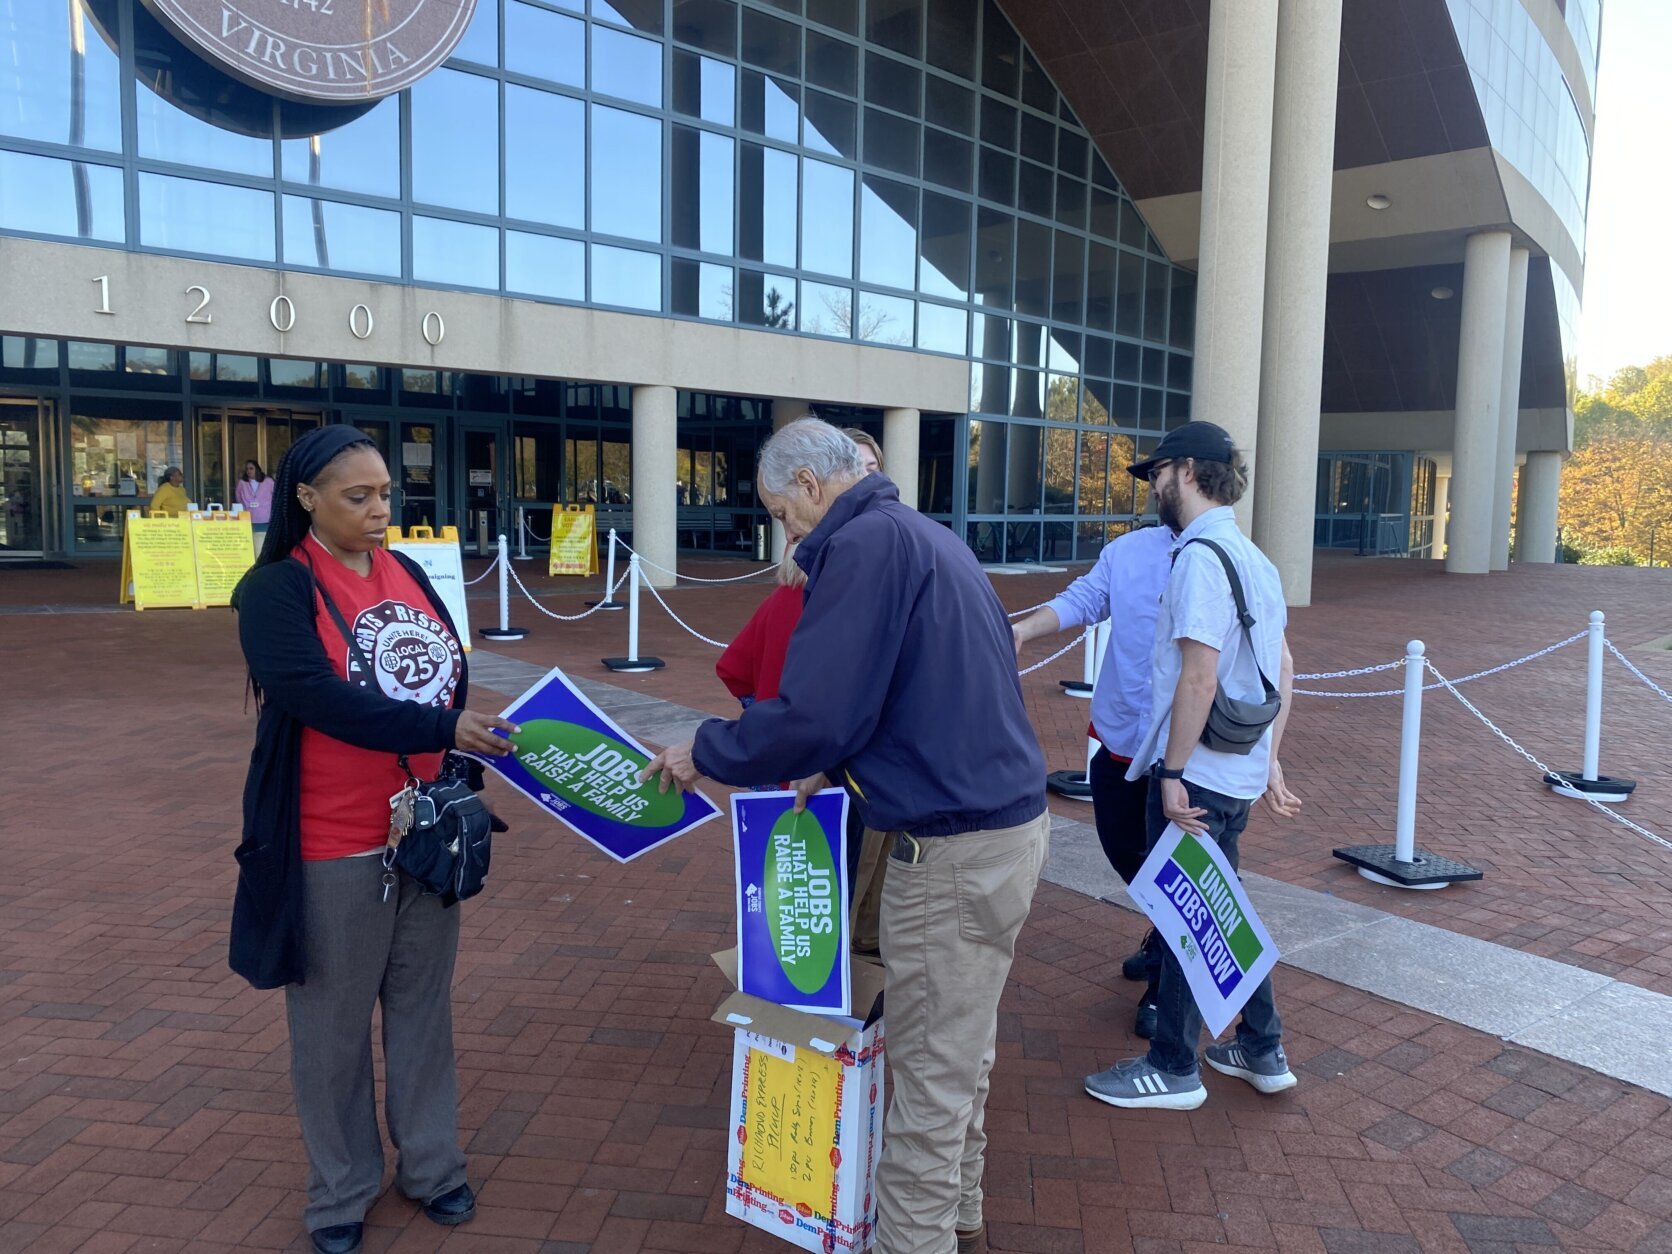
[[[1446,570],[1491,568],[1491,512],[1503,403],[1503,311],[1510,298],[1510,232],[1483,231],[1463,249],[1463,328],[1458,334],[1456,428],[1451,438],[1451,530]]]

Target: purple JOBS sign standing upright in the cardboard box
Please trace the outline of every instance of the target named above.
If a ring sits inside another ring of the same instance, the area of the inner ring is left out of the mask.
[[[848,794],[734,793],[737,986],[791,1010],[846,1015]]]

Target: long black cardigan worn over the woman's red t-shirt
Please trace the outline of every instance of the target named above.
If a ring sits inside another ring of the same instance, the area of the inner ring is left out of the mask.
[[[403,553],[395,558],[456,635],[418,563]],[[251,572],[237,612],[237,639],[261,689],[261,717],[244,781],[229,963],[256,988],[303,983],[303,727],[390,754],[451,749],[470,689],[461,672],[453,707],[438,709],[339,679],[319,644],[314,609],[313,573],[286,558]]]

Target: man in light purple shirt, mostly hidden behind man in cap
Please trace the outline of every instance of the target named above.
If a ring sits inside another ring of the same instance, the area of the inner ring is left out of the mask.
[[[1127,883],[1132,883],[1147,853],[1144,809],[1149,781],[1129,781],[1127,767],[1149,732],[1155,617],[1172,568],[1172,543],[1174,533],[1165,527],[1142,527],[1117,537],[1104,547],[1090,572],[1010,629],[1020,652],[1023,644],[1042,635],[1088,627],[1104,619],[1112,622],[1109,650],[1092,692],[1090,734],[1099,749],[1092,756],[1090,784],[1097,839],[1115,874]],[[1120,970],[1129,980],[1149,981],[1134,1025],[1134,1032],[1147,1038],[1155,1025],[1160,978],[1160,941],[1154,931],[1137,953],[1122,961]]]

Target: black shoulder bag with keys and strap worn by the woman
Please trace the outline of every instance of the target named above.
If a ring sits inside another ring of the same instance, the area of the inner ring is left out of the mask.
[[[309,568],[309,575],[313,570]],[[371,659],[359,647],[343,612],[331,600],[319,580],[319,599],[343,634],[354,662],[359,664],[361,686],[376,679]],[[383,869],[393,873],[398,866],[430,896],[441,898],[443,906],[475,896],[488,878],[493,858],[493,814],[472,788],[468,757],[448,752],[441,771],[431,781],[418,779],[406,761],[398,757],[406,772],[406,788],[396,796],[390,814],[390,839],[383,848]],[[393,886],[393,874],[383,881],[383,895]]]

